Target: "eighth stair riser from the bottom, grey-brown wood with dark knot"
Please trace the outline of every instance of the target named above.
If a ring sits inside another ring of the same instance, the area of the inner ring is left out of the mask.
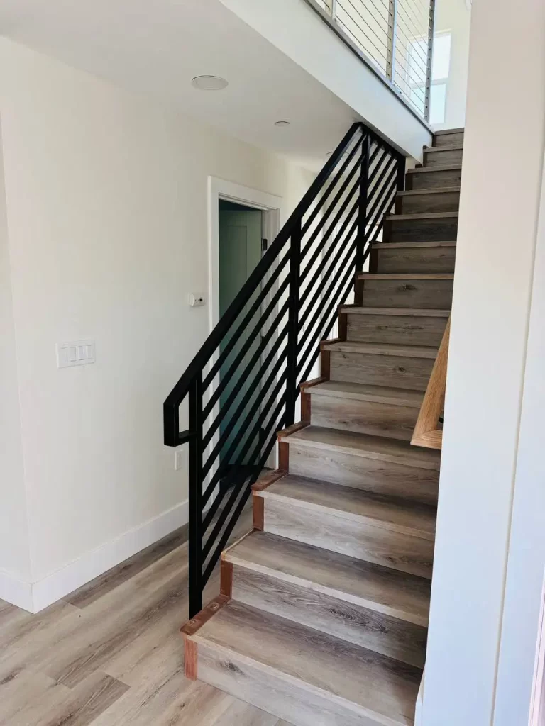
[[[367,279],[363,285],[363,305],[373,308],[449,310],[452,305],[452,287],[453,280]]]

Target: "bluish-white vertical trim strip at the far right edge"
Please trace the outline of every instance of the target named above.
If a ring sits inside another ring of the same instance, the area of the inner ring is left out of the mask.
[[[528,326],[494,726],[537,726],[543,708],[545,573],[545,158]]]

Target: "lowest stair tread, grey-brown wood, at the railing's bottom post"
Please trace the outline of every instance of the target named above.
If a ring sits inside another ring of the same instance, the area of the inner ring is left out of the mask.
[[[421,670],[231,600],[192,636],[347,707],[412,725]],[[236,666],[235,666],[236,667]]]

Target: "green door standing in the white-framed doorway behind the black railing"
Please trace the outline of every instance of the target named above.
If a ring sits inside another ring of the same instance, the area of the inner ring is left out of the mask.
[[[262,236],[262,213],[257,209],[247,209],[234,205],[230,202],[219,202],[219,314],[224,314],[230,303],[233,302],[238,291],[248,279],[254,267],[261,259],[261,236]],[[255,298],[253,298],[255,299]],[[249,301],[246,310],[252,303]],[[242,319],[244,313],[238,318],[238,322]],[[259,431],[256,425],[244,427],[246,429],[242,436],[241,442],[236,449],[227,455],[233,441],[240,435],[241,425],[247,417],[252,404],[259,397],[259,386],[256,385],[255,377],[259,371],[259,360],[254,364],[251,370],[247,368],[251,357],[255,354],[259,346],[259,335],[252,333],[252,329],[259,320],[259,311],[254,320],[238,339],[226,361],[220,370],[220,377],[225,376],[230,365],[240,353],[241,348],[246,340],[251,339],[248,351],[244,355],[244,361],[235,370],[234,375],[227,383],[225,390],[222,391],[220,397],[220,405],[223,407],[227,404],[233,391],[236,391],[234,401],[230,405],[227,415],[220,425],[220,434],[229,432],[227,441],[222,446],[220,461],[222,465],[228,466],[234,464],[238,460],[242,449],[249,447],[250,452],[257,446],[259,441]],[[240,415],[235,417],[236,409],[243,399],[243,396],[252,389],[252,393],[248,403],[245,405]],[[252,416],[252,420],[256,420],[259,416],[259,408]],[[256,457],[254,457],[256,458]],[[243,463],[252,465],[255,463],[251,460],[251,453],[246,454]]]

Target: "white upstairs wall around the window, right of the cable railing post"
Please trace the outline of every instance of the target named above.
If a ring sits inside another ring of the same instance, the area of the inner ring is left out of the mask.
[[[470,25],[471,11],[465,0],[436,1],[435,32],[451,33],[451,66],[448,74],[445,122],[435,124],[435,129],[459,129],[465,125]]]

